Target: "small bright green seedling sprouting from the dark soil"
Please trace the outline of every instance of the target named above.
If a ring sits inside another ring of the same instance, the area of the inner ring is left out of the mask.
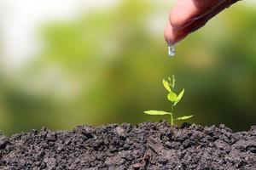
[[[166,112],[166,111],[144,111],[144,113],[148,115],[170,115],[171,120],[170,123],[171,125],[174,124],[174,121],[180,121],[180,120],[187,120],[191,118],[191,116],[180,116],[177,118],[173,118],[174,115],[174,107],[177,105],[177,103],[183,98],[183,94],[185,92],[185,89],[183,89],[178,95],[174,93],[174,88],[175,88],[175,77],[172,76],[172,79],[168,77],[168,81],[165,79],[163,80],[164,87],[168,91],[167,99],[171,101],[172,107],[171,107],[171,112]]]

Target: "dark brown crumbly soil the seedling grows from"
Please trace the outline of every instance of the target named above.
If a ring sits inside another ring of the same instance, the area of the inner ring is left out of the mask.
[[[79,126],[0,134],[0,169],[256,169],[256,127],[247,132],[166,122]]]

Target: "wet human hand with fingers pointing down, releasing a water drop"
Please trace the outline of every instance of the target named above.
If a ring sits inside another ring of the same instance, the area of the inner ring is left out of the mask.
[[[200,29],[224,8],[239,0],[177,0],[169,14],[165,30],[168,44],[175,44]]]

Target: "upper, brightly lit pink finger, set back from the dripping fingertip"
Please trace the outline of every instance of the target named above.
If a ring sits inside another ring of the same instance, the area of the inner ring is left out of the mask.
[[[194,18],[206,14],[224,1],[230,0],[178,0],[172,8],[169,20],[173,28],[182,29],[191,24]]]

